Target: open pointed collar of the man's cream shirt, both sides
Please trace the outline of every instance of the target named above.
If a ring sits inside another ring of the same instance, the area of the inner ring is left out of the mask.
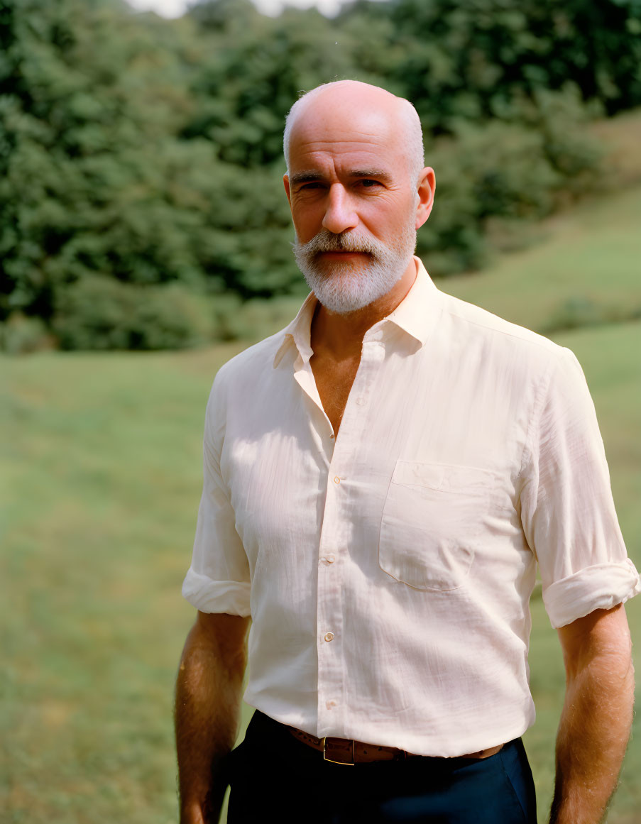
[[[379,321],[378,324],[375,324],[372,330],[380,328],[387,321],[391,321],[401,330],[407,332],[408,335],[418,340],[419,344],[423,346],[432,331],[433,321],[436,320],[437,298],[441,293],[428,275],[423,266],[423,261],[414,256],[414,262],[416,264],[416,279],[409,292],[395,310],[383,318],[382,321]],[[309,293],[302,307],[298,310],[297,316],[283,329],[281,333],[283,340],[274,355],[274,369],[281,362],[284,353],[292,343],[295,344],[304,360],[311,358],[313,354],[311,349],[311,319],[314,316],[317,303],[316,295],[313,292]],[[372,330],[369,330],[367,335]]]

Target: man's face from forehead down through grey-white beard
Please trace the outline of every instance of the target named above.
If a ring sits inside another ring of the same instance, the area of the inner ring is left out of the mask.
[[[397,120],[378,109],[314,101],[290,138],[285,189],[294,254],[316,297],[341,314],[399,281],[413,265],[416,228],[425,219]]]

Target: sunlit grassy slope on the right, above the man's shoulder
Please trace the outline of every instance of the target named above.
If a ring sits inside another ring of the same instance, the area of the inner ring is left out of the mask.
[[[584,202],[540,224],[526,250],[443,290],[545,332],[583,321],[641,318],[641,188]]]

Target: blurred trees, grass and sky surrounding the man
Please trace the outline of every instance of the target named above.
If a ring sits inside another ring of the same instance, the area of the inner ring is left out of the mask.
[[[321,82],[416,106],[418,254],[577,354],[641,566],[638,0],[301,6],[0,0],[2,822],[177,820],[204,405],[306,294],[282,129]],[[538,589],[532,613],[543,822],[564,671]],[[641,822],[639,770],[633,735],[611,824]]]

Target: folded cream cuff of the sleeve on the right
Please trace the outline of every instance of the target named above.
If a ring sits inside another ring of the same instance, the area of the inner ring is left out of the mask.
[[[641,592],[641,578],[629,558],[616,564],[579,569],[543,590],[543,602],[554,629],[594,610],[609,610]]]

